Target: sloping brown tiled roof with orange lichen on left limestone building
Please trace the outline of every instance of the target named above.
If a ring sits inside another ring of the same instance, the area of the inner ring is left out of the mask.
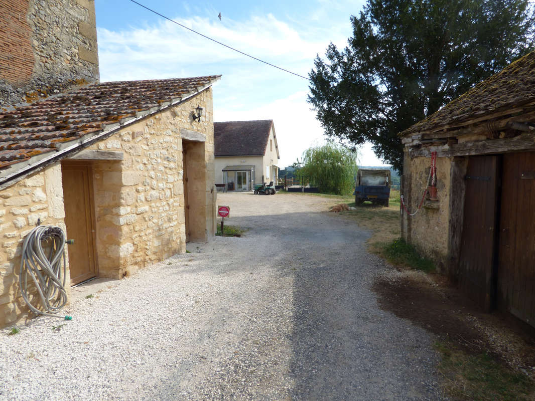
[[[0,111],[0,175],[6,167],[16,167],[13,164],[53,155],[80,140],[86,143],[114,127],[179,103],[219,77],[103,82]]]

